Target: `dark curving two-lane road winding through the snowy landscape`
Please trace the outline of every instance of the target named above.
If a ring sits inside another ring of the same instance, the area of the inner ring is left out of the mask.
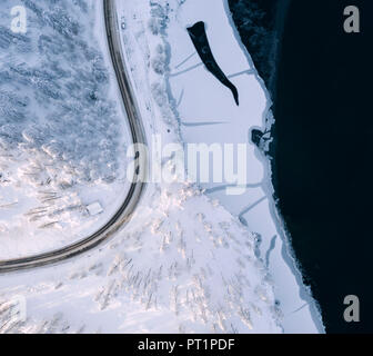
[[[125,70],[125,65],[123,62],[122,46],[119,33],[119,23],[115,11],[115,0],[103,0],[103,16],[105,21],[108,47],[110,56],[112,59],[112,65],[115,71],[118,85],[122,96],[123,105],[128,115],[131,137],[133,144],[145,145],[145,134],[142,127],[141,117],[137,107],[137,101],[134,99],[133,90],[129,80],[128,71]],[[26,258],[1,260],[0,261],[0,274],[9,273],[14,270],[22,270],[29,268],[41,267],[46,265],[56,264],[68,258],[83,254],[103,241],[112,237],[120,227],[127,224],[145,188],[145,182],[137,181],[137,176],[145,175],[148,169],[148,161],[145,157],[140,157],[140,150],[135,155],[137,158],[137,169],[133,177],[133,182],[131,184],[129,194],[115,212],[115,215],[107,222],[100,230],[92,234],[91,236],[81,239],[80,241],[57,249],[50,253],[44,253],[36,256],[30,256]]]

